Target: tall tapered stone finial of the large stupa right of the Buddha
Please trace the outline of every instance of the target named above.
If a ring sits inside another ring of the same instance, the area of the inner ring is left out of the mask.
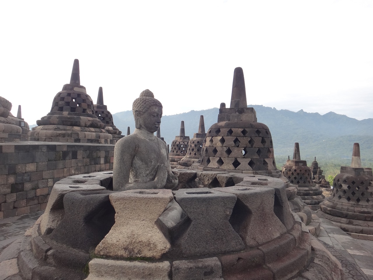
[[[244,71],[241,67],[234,69],[231,108],[247,108]]]

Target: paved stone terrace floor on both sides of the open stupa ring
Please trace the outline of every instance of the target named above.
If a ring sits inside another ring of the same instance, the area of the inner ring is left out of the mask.
[[[0,253],[21,237],[41,214],[43,211],[0,220]],[[353,239],[325,218],[320,218],[320,222],[318,239],[341,262],[345,280],[373,280],[373,241]],[[6,279],[1,276],[2,266],[0,262],[0,280]]]

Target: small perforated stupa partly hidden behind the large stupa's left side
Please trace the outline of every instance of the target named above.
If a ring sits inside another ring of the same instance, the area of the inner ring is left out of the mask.
[[[203,115],[201,115],[200,124],[198,126],[198,133],[194,133],[193,138],[189,140],[186,156],[178,162],[176,168],[185,169],[187,167],[190,167],[192,164],[198,162],[201,156],[202,144],[205,137],[205,122],[203,119]]]

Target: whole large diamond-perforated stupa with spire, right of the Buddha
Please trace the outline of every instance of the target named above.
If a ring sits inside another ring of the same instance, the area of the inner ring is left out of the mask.
[[[207,131],[198,169],[280,176],[271,133],[265,124],[257,122],[254,108],[247,108],[240,67],[233,74],[231,108],[220,105],[217,123]]]

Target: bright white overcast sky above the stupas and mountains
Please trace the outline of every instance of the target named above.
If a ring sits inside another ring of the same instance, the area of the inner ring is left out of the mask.
[[[373,1],[0,1],[1,93],[31,125],[79,59],[112,113],[145,88],[173,115],[248,104],[373,118]]]

